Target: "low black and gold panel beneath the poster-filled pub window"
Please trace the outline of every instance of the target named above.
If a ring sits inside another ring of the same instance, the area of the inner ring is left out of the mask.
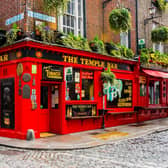
[[[95,116],[95,104],[67,105],[66,117]]]

